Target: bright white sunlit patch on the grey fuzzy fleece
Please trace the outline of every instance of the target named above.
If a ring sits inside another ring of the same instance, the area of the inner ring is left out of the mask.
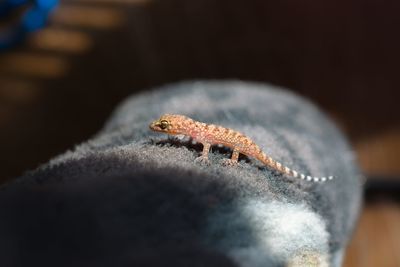
[[[254,200],[243,207],[242,216],[253,228],[256,242],[231,250],[240,266],[286,263],[303,251],[328,253],[325,222],[305,205]]]

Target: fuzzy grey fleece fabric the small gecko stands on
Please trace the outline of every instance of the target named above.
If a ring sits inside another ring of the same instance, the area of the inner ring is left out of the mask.
[[[175,113],[251,137],[290,168],[151,132]],[[281,88],[168,85],[124,101],[105,127],[0,191],[1,266],[340,266],[360,208],[360,173],[338,129]],[[299,260],[300,259],[300,260]],[[317,265],[302,261],[320,262]],[[304,264],[304,265],[302,265]]]

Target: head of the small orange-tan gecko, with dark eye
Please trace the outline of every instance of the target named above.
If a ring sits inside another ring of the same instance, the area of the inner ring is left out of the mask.
[[[149,127],[156,132],[181,134],[182,122],[186,119],[183,115],[164,114],[158,120],[153,121]]]

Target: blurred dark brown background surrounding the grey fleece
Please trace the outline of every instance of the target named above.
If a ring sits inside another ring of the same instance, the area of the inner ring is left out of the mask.
[[[399,10],[395,0],[61,1],[47,27],[0,54],[0,182],[90,138],[132,93],[231,78],[311,98],[367,175],[396,179]],[[397,205],[369,206],[346,266],[400,266],[399,222]]]

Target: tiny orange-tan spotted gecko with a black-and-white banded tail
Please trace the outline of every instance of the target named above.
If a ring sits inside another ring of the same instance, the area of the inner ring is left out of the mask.
[[[247,136],[235,130],[225,128],[214,124],[206,124],[195,121],[183,115],[164,114],[158,120],[150,124],[150,129],[156,132],[167,133],[170,135],[185,135],[193,140],[203,144],[203,152],[196,159],[199,162],[208,162],[208,153],[211,145],[222,144],[232,148],[233,153],[231,159],[226,159],[227,165],[236,165],[239,159],[239,154],[244,154],[249,157],[254,157],[261,161],[266,166],[269,166],[283,174],[306,179],[314,182],[324,182],[332,180],[333,176],[328,177],[311,177],[298,173],[281,163],[267,156],[262,150]]]

